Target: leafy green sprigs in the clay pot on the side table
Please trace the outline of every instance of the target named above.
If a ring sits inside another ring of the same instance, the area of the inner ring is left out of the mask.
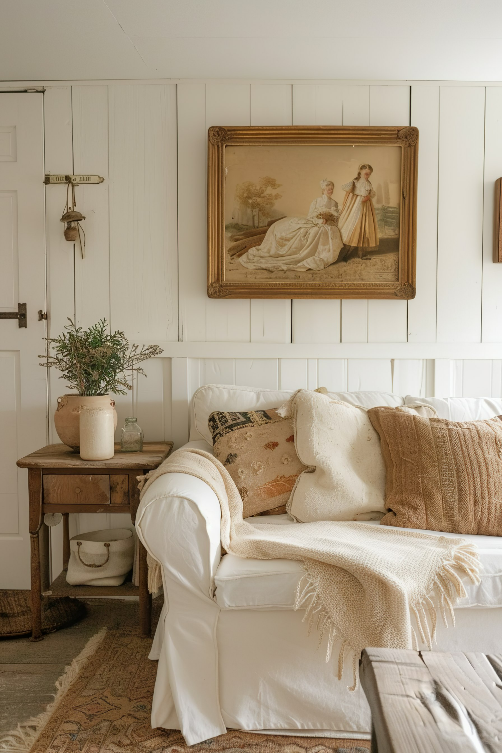
[[[59,379],[66,380],[69,389],[76,389],[79,395],[126,395],[132,389],[126,373],[145,371],[138,366],[154,355],[163,352],[158,345],[129,345],[125,334],[109,332],[106,319],[87,330],[77,327],[68,318],[69,325],[59,337],[45,337],[47,354],[41,366],[56,367],[61,371]],[[50,353],[52,346],[53,353]]]

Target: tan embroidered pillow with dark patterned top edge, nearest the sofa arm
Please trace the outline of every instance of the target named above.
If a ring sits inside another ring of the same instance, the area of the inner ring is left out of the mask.
[[[243,517],[284,513],[294,484],[306,465],[294,449],[293,425],[276,408],[209,416],[214,456],[236,483]]]

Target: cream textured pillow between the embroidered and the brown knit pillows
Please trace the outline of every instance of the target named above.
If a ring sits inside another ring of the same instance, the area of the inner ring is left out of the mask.
[[[293,417],[298,457],[311,466],[297,480],[289,514],[300,523],[382,517],[385,465],[367,410],[300,389],[281,413]]]

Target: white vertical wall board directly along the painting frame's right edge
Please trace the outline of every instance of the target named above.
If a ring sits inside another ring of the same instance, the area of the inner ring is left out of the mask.
[[[440,87],[412,87],[411,98],[419,136],[416,296],[408,301],[408,342],[435,343]]]

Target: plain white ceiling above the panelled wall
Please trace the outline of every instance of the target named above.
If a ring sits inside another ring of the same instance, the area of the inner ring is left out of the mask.
[[[0,80],[502,80],[500,0],[0,0]]]

